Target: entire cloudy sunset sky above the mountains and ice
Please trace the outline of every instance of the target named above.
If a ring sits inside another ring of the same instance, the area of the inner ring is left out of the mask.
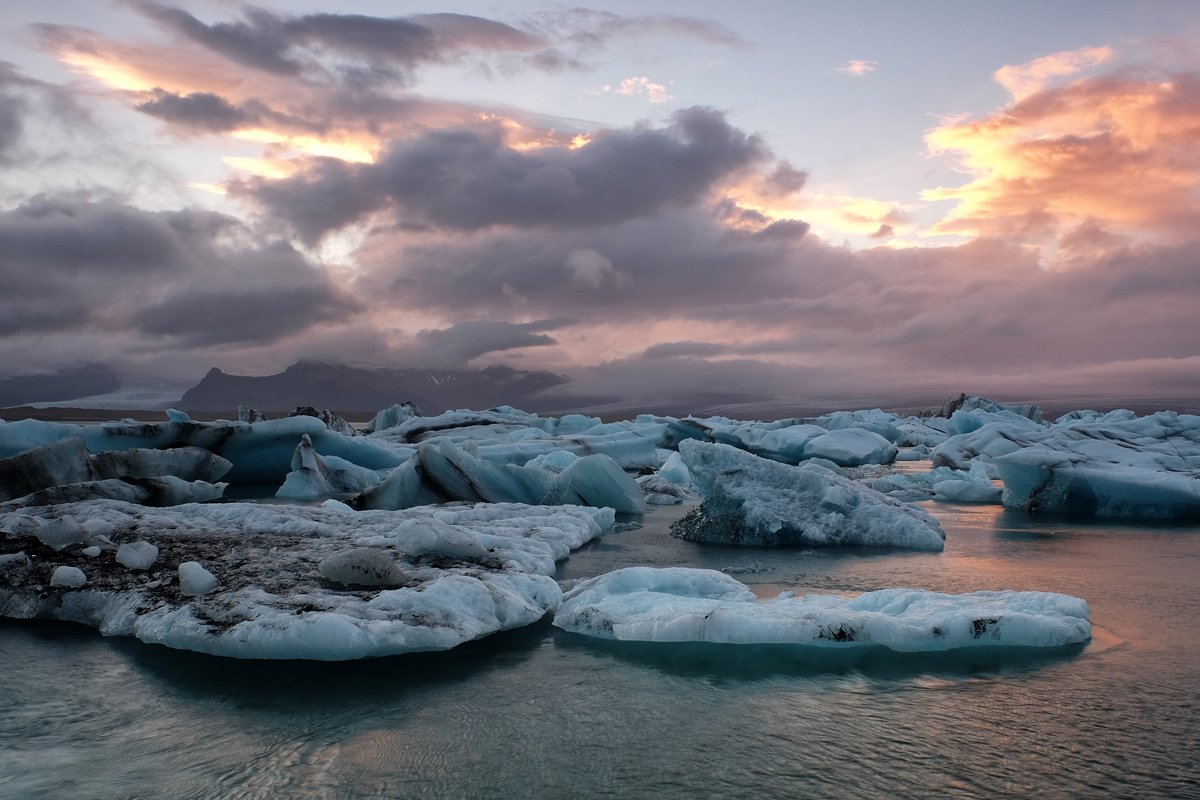
[[[0,365],[1200,395],[1200,6],[6,0]]]

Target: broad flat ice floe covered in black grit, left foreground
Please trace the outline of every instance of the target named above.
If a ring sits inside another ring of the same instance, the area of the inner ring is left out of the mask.
[[[30,519],[36,530],[64,516],[107,525],[100,558],[78,545],[53,551],[30,533]],[[554,563],[612,522],[610,510],[510,504],[402,512],[118,501],[28,509],[0,513],[0,546],[22,553],[0,569],[0,615],[77,621],[106,636],[239,658],[444,650],[541,619],[562,599],[550,577]],[[157,549],[149,571],[115,560],[114,549],[134,542]],[[318,571],[355,548],[394,563],[400,585],[346,587]],[[86,585],[47,590],[59,567],[86,570]]]

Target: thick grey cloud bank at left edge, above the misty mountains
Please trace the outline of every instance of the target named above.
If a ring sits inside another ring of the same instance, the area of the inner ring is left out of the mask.
[[[288,245],[229,217],[41,200],[0,212],[0,336],[140,331],[258,343],[360,306]]]

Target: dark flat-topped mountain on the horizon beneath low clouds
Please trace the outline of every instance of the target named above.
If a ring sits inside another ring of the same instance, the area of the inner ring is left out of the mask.
[[[454,408],[515,405],[530,411],[552,403],[539,395],[564,375],[504,366],[463,369],[368,369],[300,361],[275,375],[229,375],[217,368],[179,401],[186,411],[228,411],[250,405],[283,411],[314,405],[340,413],[377,411],[404,401],[426,414]]]

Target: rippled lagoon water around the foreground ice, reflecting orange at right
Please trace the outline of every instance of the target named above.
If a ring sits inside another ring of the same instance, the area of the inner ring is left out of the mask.
[[[756,591],[1045,589],[1051,654],[619,646],[542,622],[452,652],[226,661],[0,621],[0,798],[1200,798],[1200,528],[932,505],[942,554],[606,535],[560,578],[725,569]]]

